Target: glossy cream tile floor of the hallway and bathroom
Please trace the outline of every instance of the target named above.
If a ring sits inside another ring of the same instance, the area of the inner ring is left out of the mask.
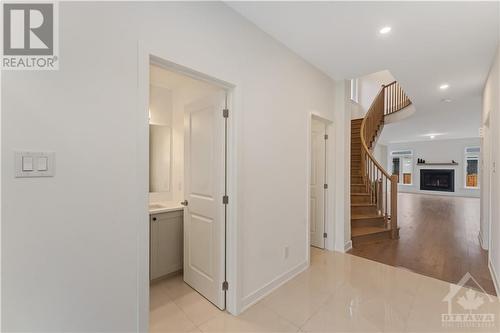
[[[493,314],[494,327],[443,327],[446,282],[337,252],[312,249],[310,268],[238,317],[219,311],[178,275],[151,286],[151,332],[500,332],[499,300],[452,313]],[[464,300],[464,299],[462,299]],[[470,298],[469,298],[470,300]],[[478,305],[481,301],[469,304]],[[462,302],[462,304],[464,304]],[[476,317],[477,318],[477,317]],[[489,317],[491,318],[491,317]]]

